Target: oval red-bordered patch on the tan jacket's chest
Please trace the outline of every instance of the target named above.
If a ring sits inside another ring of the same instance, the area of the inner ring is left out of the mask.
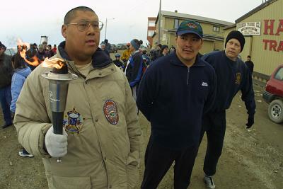
[[[105,101],[103,112],[108,122],[110,122],[112,125],[117,125],[117,123],[119,122],[119,115],[117,105],[114,101]]]

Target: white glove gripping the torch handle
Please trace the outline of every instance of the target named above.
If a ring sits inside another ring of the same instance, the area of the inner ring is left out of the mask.
[[[62,157],[67,154],[68,134],[63,128],[63,134],[54,134],[53,127],[45,134],[45,147],[52,157]]]

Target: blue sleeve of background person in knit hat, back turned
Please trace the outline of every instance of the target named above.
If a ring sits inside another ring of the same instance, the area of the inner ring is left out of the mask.
[[[141,80],[141,71],[142,71],[142,57],[136,55],[133,57],[132,73],[131,79],[129,81],[129,86],[136,86]]]

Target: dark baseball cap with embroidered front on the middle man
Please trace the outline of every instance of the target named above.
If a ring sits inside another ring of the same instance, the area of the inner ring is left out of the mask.
[[[185,33],[195,33],[195,35],[203,38],[202,26],[195,21],[183,21],[180,23],[176,34],[183,35]]]

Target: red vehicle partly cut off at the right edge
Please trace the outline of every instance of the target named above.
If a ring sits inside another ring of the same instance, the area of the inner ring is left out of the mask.
[[[283,122],[283,64],[273,71],[262,93],[268,105],[268,116],[273,122]]]

